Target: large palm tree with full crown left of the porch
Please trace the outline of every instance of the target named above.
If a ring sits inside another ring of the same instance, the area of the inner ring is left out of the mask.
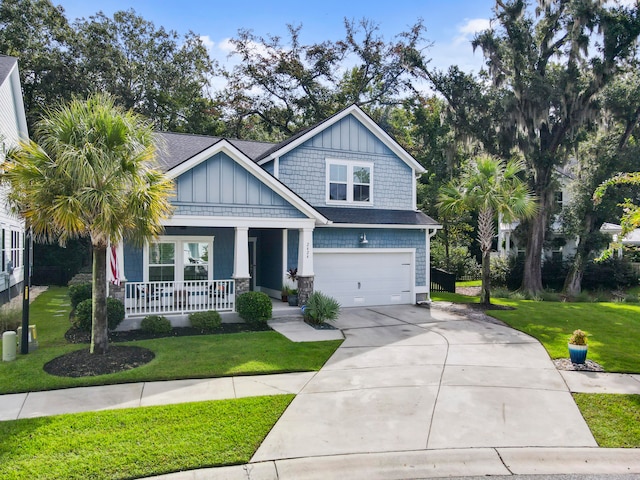
[[[10,187],[12,211],[38,239],[91,239],[91,353],[106,353],[107,247],[157,236],[172,211],[173,183],[155,168],[151,124],[107,95],[50,110],[35,136],[38,143],[10,152],[0,181]]]

